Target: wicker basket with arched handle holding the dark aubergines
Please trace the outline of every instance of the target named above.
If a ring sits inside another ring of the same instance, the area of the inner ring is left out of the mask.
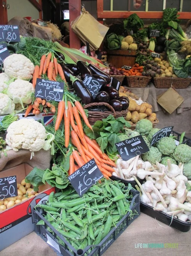
[[[126,114],[128,110],[123,110],[123,111],[115,111],[113,107],[106,103],[106,102],[92,102],[89,104],[86,104],[84,106],[84,109],[87,109],[89,107],[94,107],[94,106],[105,106],[107,107],[110,111],[88,111],[88,121],[91,125],[94,125],[96,121],[102,121],[102,119],[108,117],[109,115],[114,116],[115,118],[117,117],[126,117]]]

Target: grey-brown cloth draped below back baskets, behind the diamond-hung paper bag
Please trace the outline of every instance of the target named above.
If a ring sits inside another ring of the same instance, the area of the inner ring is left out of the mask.
[[[167,91],[167,88],[155,88],[154,84],[150,82],[144,88],[127,87],[127,89],[152,105],[152,111],[157,114],[157,119],[159,119],[159,123],[155,127],[174,126],[173,129],[179,133],[183,131],[186,134],[191,133],[191,85],[185,89],[176,89],[178,94],[184,98],[184,101],[172,114],[164,112],[157,103],[157,96]]]

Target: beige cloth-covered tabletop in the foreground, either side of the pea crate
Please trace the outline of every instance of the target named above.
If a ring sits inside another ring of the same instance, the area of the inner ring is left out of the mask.
[[[190,255],[190,238],[191,230],[181,232],[141,213],[102,255]],[[149,246],[151,248],[149,248]],[[162,246],[164,246],[164,248],[161,248]],[[18,242],[0,251],[0,256],[9,256],[11,254],[15,256],[57,255],[35,232],[30,233]]]

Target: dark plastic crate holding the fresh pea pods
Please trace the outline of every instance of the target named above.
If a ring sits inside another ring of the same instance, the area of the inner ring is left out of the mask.
[[[42,215],[42,209],[33,210],[34,222],[35,224],[43,220],[45,225],[35,225],[35,232],[39,235],[50,247],[56,251],[58,255],[64,256],[100,256],[102,255],[109,246],[118,238],[118,236],[125,231],[125,229],[140,215],[140,199],[139,192],[131,189],[133,199],[131,201],[130,209],[132,210],[133,215],[130,215],[128,212],[121,220],[117,223],[116,227],[113,227],[112,230],[105,236],[102,241],[97,245],[88,245],[84,250],[74,249],[68,241],[52,226],[49,221],[47,221]],[[51,229],[53,234],[50,233],[47,229]],[[62,244],[58,242],[56,237],[59,237],[62,240]],[[64,245],[63,245],[64,244]]]

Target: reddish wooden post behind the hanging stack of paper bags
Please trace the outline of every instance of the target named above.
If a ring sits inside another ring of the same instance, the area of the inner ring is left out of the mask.
[[[76,19],[81,14],[81,0],[69,0],[69,12],[70,12],[70,48],[79,49],[81,47],[81,41],[78,36],[71,30],[71,21]]]

